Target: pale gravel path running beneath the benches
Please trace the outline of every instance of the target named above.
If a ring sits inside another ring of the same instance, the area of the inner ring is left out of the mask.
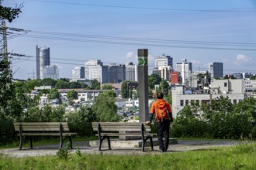
[[[189,141],[189,140],[178,140],[178,144],[170,145],[168,151],[164,154],[175,153],[180,151],[191,151],[199,150],[209,147],[225,147],[231,145],[239,145],[240,141]],[[90,147],[88,141],[75,141],[73,143],[73,150],[71,153],[74,153],[77,148],[80,149],[81,153],[86,154],[101,154],[101,155],[148,155],[148,154],[163,154],[158,151],[158,146],[154,146],[154,151],[150,151],[150,148],[147,148],[147,151],[142,152],[141,148],[112,148],[112,150],[99,151],[96,147]],[[102,148],[104,149],[104,148]],[[10,156],[10,157],[29,157],[29,156],[45,156],[45,155],[56,155],[58,151],[58,145],[43,145],[36,146],[34,149],[23,148],[11,148],[11,149],[2,149],[0,154]]]

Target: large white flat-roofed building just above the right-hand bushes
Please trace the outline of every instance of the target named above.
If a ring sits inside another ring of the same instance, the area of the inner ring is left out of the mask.
[[[223,96],[229,97],[231,103],[236,104],[246,97],[244,84],[244,80],[211,80],[210,87],[205,87],[203,93],[185,90],[184,86],[174,87],[171,90],[173,116],[177,117],[178,111],[191,104],[192,100],[207,104],[210,100]]]

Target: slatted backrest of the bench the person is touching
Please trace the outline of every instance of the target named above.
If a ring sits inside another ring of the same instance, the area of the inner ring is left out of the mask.
[[[101,131],[141,131],[139,122],[92,122],[93,131],[98,131],[100,124]],[[150,132],[150,126],[144,125],[144,131]]]

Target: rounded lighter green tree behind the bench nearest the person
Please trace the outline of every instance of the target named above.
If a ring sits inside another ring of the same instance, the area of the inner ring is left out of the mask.
[[[109,97],[105,93],[100,93],[96,98],[95,104],[92,105],[92,110],[99,121],[119,121],[120,117],[117,112],[116,100]]]

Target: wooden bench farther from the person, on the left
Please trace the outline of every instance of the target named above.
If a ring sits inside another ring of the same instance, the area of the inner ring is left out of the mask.
[[[30,148],[33,148],[33,136],[60,136],[60,148],[63,146],[64,139],[69,138],[71,148],[73,148],[71,137],[76,133],[69,132],[67,122],[16,122],[14,128],[19,131],[19,150],[22,149],[26,136],[29,137]]]

